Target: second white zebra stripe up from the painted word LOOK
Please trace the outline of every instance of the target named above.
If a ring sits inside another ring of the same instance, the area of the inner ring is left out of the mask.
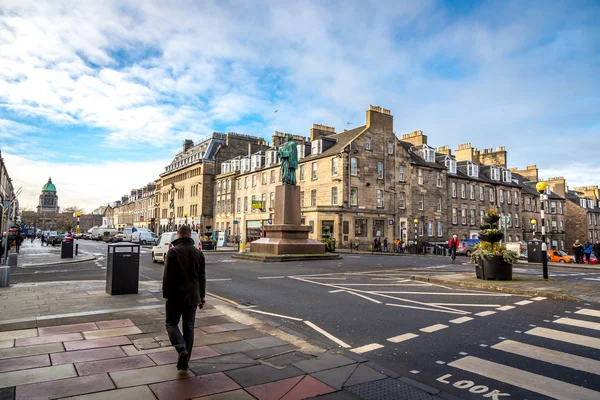
[[[515,342],[514,340],[505,340],[495,344],[492,346],[492,349],[502,350],[534,360],[600,375],[600,361],[591,358],[550,350],[544,347],[532,346],[526,343]]]

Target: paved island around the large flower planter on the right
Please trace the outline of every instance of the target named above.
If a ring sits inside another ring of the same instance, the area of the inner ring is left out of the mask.
[[[520,265],[520,264],[519,264]],[[423,282],[442,283],[500,292],[544,296],[555,299],[600,303],[600,284],[549,279],[513,272],[512,281],[483,281],[473,272],[448,273],[435,272],[431,275],[415,275],[412,279]]]

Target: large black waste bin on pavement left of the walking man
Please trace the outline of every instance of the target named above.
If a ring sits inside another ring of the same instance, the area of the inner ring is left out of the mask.
[[[140,281],[140,245],[109,244],[106,267],[106,293],[136,294]]]

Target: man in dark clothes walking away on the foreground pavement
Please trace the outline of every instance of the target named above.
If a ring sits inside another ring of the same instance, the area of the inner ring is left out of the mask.
[[[169,340],[179,353],[178,370],[187,370],[194,345],[196,307],[204,307],[206,271],[204,254],[197,249],[192,230],[182,225],[177,239],[167,252],[163,274],[163,297],[166,301],[166,329]],[[182,321],[183,334],[179,330]]]

